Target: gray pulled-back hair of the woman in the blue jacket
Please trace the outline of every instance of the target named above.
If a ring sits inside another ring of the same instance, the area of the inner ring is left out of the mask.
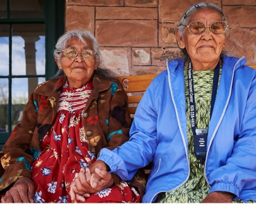
[[[200,10],[207,9],[207,8],[210,8],[211,10],[214,10],[217,13],[219,13],[221,18],[222,18],[222,20],[223,20],[223,22],[227,23],[224,13],[215,4],[204,3],[204,2],[201,2],[201,3],[198,3],[198,4],[194,4],[193,6],[188,8],[187,11],[185,11],[185,13],[182,15],[182,17],[179,20],[177,29],[179,30],[180,36],[182,36],[182,38],[184,38],[184,36],[185,36],[185,29],[186,29],[186,27],[183,26],[183,25],[188,25],[189,24],[189,18],[191,17],[191,15],[194,15],[196,12],[198,12]],[[179,44],[178,44],[178,46],[179,46]],[[186,51],[186,48],[180,48],[180,50],[182,50],[182,52],[185,55],[185,57],[188,58],[188,52]],[[221,52],[221,55],[226,55],[226,54],[224,54],[224,52]]]

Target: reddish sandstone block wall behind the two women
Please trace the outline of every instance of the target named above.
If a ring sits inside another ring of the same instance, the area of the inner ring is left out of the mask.
[[[99,41],[107,68],[117,75],[160,73],[166,58],[182,57],[175,28],[200,0],[66,0],[66,30],[87,29]],[[223,10],[229,24],[226,50],[256,64],[256,1],[205,0]]]

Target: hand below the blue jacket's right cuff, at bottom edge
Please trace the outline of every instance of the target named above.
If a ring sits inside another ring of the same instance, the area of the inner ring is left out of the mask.
[[[224,191],[215,191],[208,194],[202,203],[232,203],[234,194]]]

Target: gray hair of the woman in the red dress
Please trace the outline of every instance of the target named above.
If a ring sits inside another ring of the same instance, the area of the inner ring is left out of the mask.
[[[96,64],[99,63],[98,69],[104,68],[102,63],[102,55],[100,54],[99,44],[96,38],[93,36],[92,33],[84,29],[67,31],[67,33],[64,33],[62,36],[60,36],[60,38],[58,39],[55,45],[55,49],[53,52],[54,58],[56,58],[60,62],[61,56],[62,56],[61,50],[65,50],[65,48],[67,48],[67,42],[72,38],[78,39],[79,41],[83,42],[84,45],[87,45],[86,40],[90,41],[90,43],[92,43],[91,49],[95,52],[95,63]],[[97,72],[97,69],[95,71]],[[100,69],[99,72],[101,73],[102,69]],[[106,71],[103,71],[103,72],[104,72],[104,75],[106,75]],[[56,75],[54,75],[51,79],[58,79],[62,76],[65,76],[63,69],[58,69]]]

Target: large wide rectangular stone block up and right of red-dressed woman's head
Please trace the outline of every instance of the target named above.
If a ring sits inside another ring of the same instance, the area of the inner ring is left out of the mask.
[[[97,20],[100,46],[156,47],[157,20]]]

